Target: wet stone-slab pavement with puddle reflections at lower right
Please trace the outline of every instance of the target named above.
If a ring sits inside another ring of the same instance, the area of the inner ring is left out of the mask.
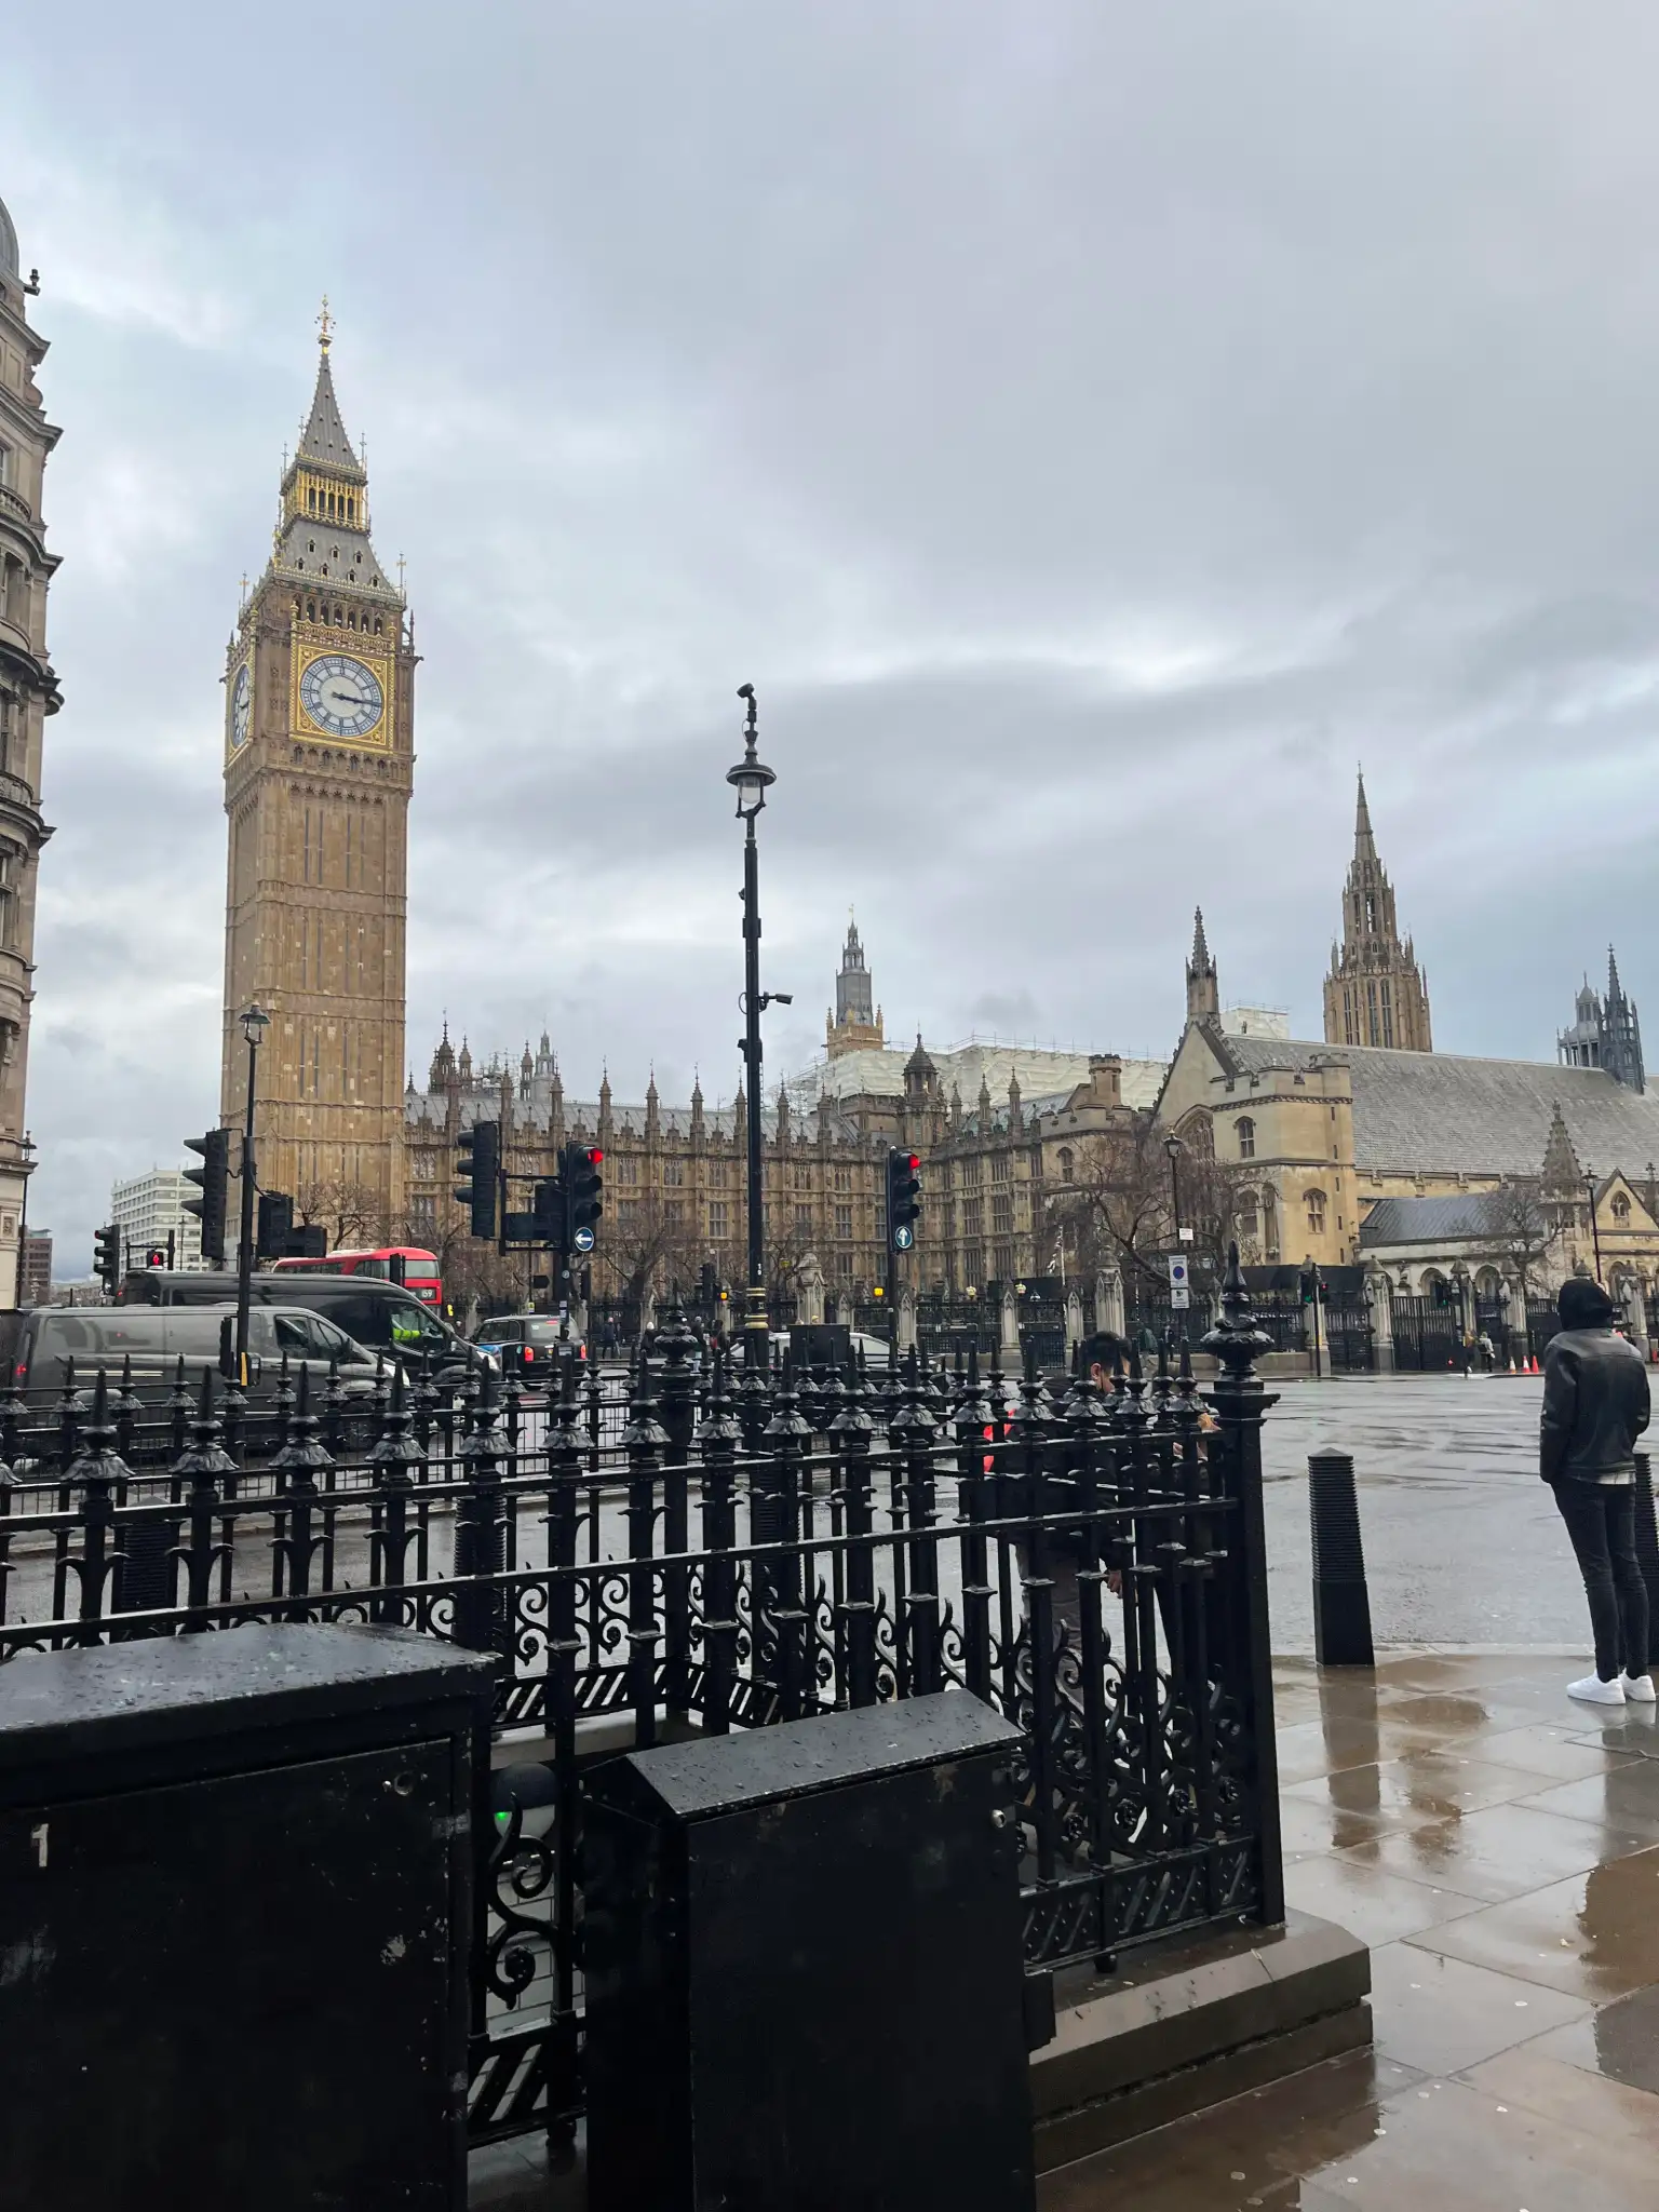
[[[1042,2212],[1655,2212],[1655,1710],[1573,1705],[1535,1652],[1276,1672],[1290,1900],[1371,1944],[1376,2051],[1062,2168]],[[529,2143],[473,2159],[473,2212],[582,2201]]]

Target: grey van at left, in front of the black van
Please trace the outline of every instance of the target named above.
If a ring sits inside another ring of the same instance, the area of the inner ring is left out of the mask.
[[[131,1363],[133,1389],[153,1400],[177,1378],[184,1360],[190,1387],[199,1389],[204,1369],[219,1369],[223,1318],[226,1307],[184,1305],[31,1305],[18,1314],[0,1314],[11,1383],[27,1398],[55,1396],[71,1363],[82,1387],[91,1385],[100,1367],[108,1367],[115,1378]],[[374,1356],[336,1323],[305,1307],[263,1305],[250,1312],[248,1356],[254,1402],[276,1389],[283,1358],[290,1378],[296,1380],[301,1369],[310,1374],[312,1391],[323,1389],[334,1363],[347,1398],[374,1391]]]

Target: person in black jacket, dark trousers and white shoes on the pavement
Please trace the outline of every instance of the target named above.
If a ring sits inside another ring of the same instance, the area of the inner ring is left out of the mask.
[[[1613,1334],[1613,1298],[1573,1276],[1555,1301],[1559,1334],[1544,1354],[1537,1471],[1555,1491],[1590,1599],[1595,1674],[1568,1697],[1588,1705],[1655,1703],[1648,1677],[1648,1588],[1637,1559],[1635,1447],[1648,1427],[1648,1365]]]

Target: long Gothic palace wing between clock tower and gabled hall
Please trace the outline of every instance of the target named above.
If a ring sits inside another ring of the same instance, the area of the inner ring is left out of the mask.
[[[856,962],[849,969],[849,956]],[[933,1055],[922,1040],[909,1055],[885,1044],[834,1051],[834,1031],[867,1022],[869,969],[856,929],[847,931],[832,1046],[825,1060],[783,1084],[765,1113],[768,1248],[774,1281],[792,1283],[810,1259],[830,1296],[852,1290],[967,1294],[987,1283],[1051,1274],[1053,1203],[1079,1166],[1088,1137],[1121,1124],[1133,1106],[1150,1108],[1161,1068],[1108,1053],[1044,1053],[1024,1046],[958,1046]],[[947,1077],[949,1075],[949,1088]],[[973,1104],[962,1077],[973,1075]],[[1024,1082],[1022,1082],[1024,1075]],[[995,1091],[993,1091],[995,1082]],[[1033,1091],[1026,1091],[1033,1084]],[[1035,1088],[1042,1084],[1044,1088]],[[1133,1093],[1133,1097],[1126,1097]],[[666,1106],[655,1082],[641,1104],[619,1104],[604,1079],[595,1099],[571,1099],[544,1035],[524,1046],[518,1068],[478,1066],[445,1033],[427,1088],[405,1097],[409,1234],[440,1256],[469,1243],[453,1199],[456,1139],[478,1119],[500,1119],[513,1206],[529,1203],[529,1181],[555,1172],[568,1139],[604,1146],[604,1221],[593,1287],[615,1294],[635,1265],[641,1232],[659,1230],[655,1279],[681,1287],[710,1263],[721,1281],[745,1276],[743,1093],[710,1108],[701,1088]],[[922,1214],[916,1248],[887,1252],[887,1152],[922,1159]],[[672,1210],[672,1219],[664,1219]],[[812,1274],[812,1270],[807,1270]]]

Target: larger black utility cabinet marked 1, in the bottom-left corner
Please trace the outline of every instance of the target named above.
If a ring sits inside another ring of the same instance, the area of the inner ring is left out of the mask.
[[[237,1628],[0,1668],[0,2208],[458,2212],[493,1661]]]

